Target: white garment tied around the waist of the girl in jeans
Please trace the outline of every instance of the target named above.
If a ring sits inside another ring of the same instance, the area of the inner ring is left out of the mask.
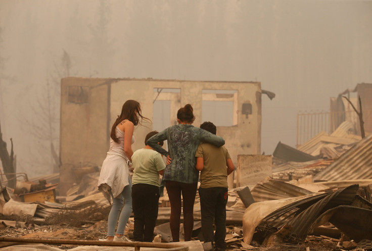
[[[110,190],[114,198],[118,197],[124,187],[129,185],[128,160],[120,155],[108,154],[101,168],[98,189],[111,204]]]

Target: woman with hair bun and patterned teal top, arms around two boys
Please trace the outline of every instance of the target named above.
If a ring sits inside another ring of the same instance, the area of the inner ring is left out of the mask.
[[[192,125],[194,120],[193,107],[187,104],[177,112],[177,125],[166,128],[147,141],[148,145],[167,157],[163,181],[165,181],[170,202],[170,230],[173,242],[179,241],[181,193],[184,241],[191,240],[194,227],[194,202],[199,178],[199,171],[195,169],[195,153],[199,144],[203,141],[219,147],[225,143],[223,138],[194,127]],[[158,144],[163,140],[168,140],[168,152]]]

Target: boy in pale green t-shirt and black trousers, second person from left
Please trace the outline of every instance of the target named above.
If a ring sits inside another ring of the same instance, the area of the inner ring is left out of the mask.
[[[145,147],[132,156],[132,207],[134,213],[134,240],[151,242],[159,210],[159,174],[163,175],[165,164],[161,155],[146,142],[157,134],[146,135]],[[159,142],[160,146],[163,141]]]

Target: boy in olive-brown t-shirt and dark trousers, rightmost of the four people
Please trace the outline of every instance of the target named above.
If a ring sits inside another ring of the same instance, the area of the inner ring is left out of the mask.
[[[212,122],[204,122],[200,128],[216,134],[216,126]],[[201,171],[199,196],[204,242],[210,241],[213,244],[214,241],[217,250],[225,250],[227,175],[232,173],[235,167],[224,146],[201,143],[195,157],[196,169]]]

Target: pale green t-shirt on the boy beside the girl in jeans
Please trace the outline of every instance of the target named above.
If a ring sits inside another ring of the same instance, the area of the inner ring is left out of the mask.
[[[165,168],[161,155],[153,149],[139,149],[132,155],[132,183],[159,186],[159,173]]]

